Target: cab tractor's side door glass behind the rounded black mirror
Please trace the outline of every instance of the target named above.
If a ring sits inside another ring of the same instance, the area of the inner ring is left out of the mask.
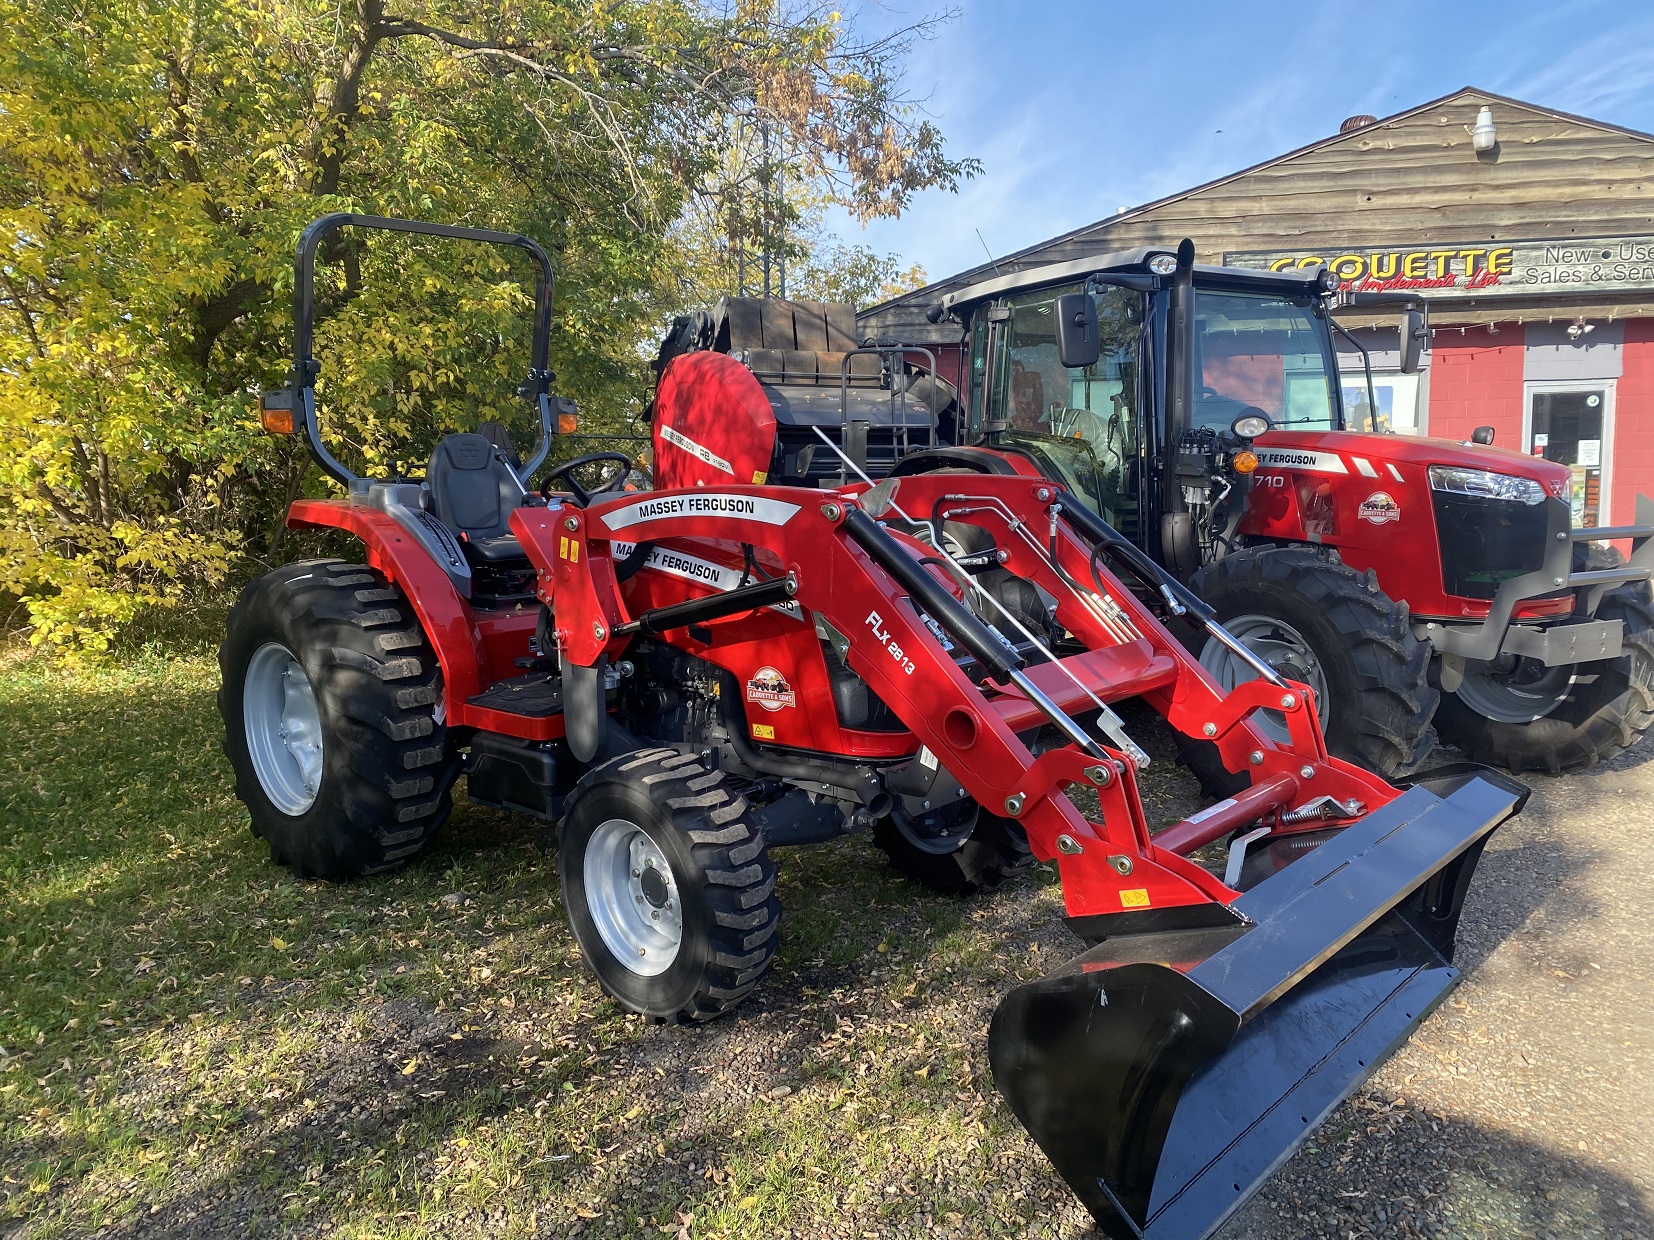
[[[1105,286],[1097,298],[1102,354],[1095,365],[1068,369],[1057,355],[1052,303],[1080,284],[1006,298],[1009,319],[986,393],[987,420],[1009,423],[1006,443],[1055,470],[1103,519],[1131,527],[1136,517],[1140,448],[1138,337],[1143,299]],[[986,316],[978,316],[986,319]]]

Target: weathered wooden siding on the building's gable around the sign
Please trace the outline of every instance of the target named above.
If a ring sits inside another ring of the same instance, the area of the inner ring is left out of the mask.
[[[1477,155],[1469,129],[1482,106],[1494,109],[1499,147]],[[1403,112],[1211,185],[1100,220],[1067,236],[999,260],[1021,269],[1140,245],[1176,245],[1188,236],[1196,261],[1226,251],[1312,248],[1345,253],[1363,246],[1431,246],[1503,240],[1566,240],[1654,233],[1654,139],[1480,91]],[[982,279],[974,268],[931,289],[863,316],[868,326],[923,321],[941,293]],[[1523,299],[1520,306],[1588,306],[1591,298]],[[1647,303],[1613,303],[1616,316],[1654,312]],[[1432,299],[1432,317],[1510,321],[1523,309],[1502,299]],[[1456,314],[1456,309],[1460,312]],[[1594,312],[1594,311],[1593,311]],[[1532,309],[1527,317],[1533,317]]]

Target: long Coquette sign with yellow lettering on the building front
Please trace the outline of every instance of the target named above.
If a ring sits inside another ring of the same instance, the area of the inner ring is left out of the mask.
[[[1535,296],[1654,288],[1654,236],[1581,236],[1353,250],[1252,250],[1226,253],[1226,266],[1290,271],[1327,266],[1351,293],[1424,296]]]

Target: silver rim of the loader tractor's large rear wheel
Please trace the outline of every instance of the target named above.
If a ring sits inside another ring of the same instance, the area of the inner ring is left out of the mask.
[[[270,804],[288,817],[304,813],[321,790],[321,713],[309,676],[280,641],[261,645],[246,665],[241,719]]]

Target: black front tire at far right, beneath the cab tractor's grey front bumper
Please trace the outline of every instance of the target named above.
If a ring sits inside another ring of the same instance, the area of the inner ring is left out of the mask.
[[[1624,564],[1619,552],[1591,547],[1576,557],[1575,567],[1619,564]],[[1459,694],[1444,693],[1437,714],[1442,739],[1472,762],[1551,775],[1585,770],[1634,746],[1654,724],[1654,602],[1647,582],[1609,590],[1596,615],[1624,622],[1623,653],[1613,661],[1581,665],[1580,678],[1555,711],[1527,724],[1497,723]]]

